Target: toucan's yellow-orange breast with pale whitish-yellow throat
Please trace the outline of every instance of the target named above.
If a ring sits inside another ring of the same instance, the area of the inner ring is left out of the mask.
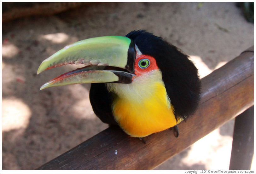
[[[128,135],[144,137],[177,125],[161,77],[154,70],[131,84],[108,84],[108,90],[116,94],[113,115]]]

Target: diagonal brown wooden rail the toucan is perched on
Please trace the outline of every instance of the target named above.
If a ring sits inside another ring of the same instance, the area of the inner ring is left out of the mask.
[[[199,108],[178,138],[166,130],[144,144],[109,127],[38,169],[153,169],[254,105],[254,46],[201,81]]]

